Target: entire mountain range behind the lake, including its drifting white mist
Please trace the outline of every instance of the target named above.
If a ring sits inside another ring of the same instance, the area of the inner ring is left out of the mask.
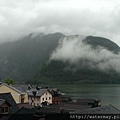
[[[0,78],[119,83],[120,48],[109,39],[32,33],[0,46]]]

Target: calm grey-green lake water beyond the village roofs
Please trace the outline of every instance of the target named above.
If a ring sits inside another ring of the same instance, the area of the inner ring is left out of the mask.
[[[120,109],[120,84],[57,84],[53,85],[71,96],[77,98],[101,99],[102,105],[112,104]]]

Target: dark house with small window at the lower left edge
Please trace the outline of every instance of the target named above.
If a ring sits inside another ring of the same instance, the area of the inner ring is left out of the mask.
[[[12,105],[4,99],[0,99],[0,114],[10,114],[10,107]]]

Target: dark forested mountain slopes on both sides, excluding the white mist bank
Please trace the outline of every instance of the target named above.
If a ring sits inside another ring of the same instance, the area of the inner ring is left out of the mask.
[[[120,75],[115,70],[104,72],[90,68],[84,58],[79,61],[77,68],[68,61],[50,60],[53,51],[60,47],[60,40],[65,37],[62,33],[32,33],[18,41],[0,45],[1,80],[119,83]],[[101,46],[116,55],[120,51],[117,44],[102,37],[88,36],[82,42],[94,50]]]

